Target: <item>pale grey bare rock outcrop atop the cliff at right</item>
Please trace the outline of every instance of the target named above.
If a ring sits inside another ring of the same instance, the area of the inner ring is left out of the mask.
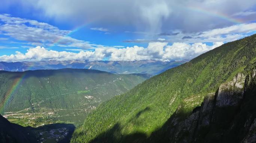
[[[236,106],[244,95],[244,81],[246,76],[239,73],[231,82],[223,83],[219,87],[216,105],[218,107]]]

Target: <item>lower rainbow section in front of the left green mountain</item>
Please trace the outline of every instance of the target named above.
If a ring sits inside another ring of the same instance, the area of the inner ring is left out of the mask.
[[[28,67],[28,70],[30,70],[31,67],[33,66],[34,66],[34,63],[31,63],[31,65]],[[0,112],[3,112],[4,107],[6,107],[6,105],[9,103],[13,93],[16,90],[18,90],[18,87],[22,83],[24,77],[26,76],[26,73],[27,72],[23,71],[22,74],[19,74],[19,76],[15,80],[13,80],[12,86],[10,86],[10,88],[6,92],[3,101],[0,102]]]

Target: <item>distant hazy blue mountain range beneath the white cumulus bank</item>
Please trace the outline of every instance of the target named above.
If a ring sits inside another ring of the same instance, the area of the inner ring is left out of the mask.
[[[23,61],[23,62],[0,62],[0,70],[6,71],[26,71],[40,69],[94,69],[107,71],[110,73],[130,74],[147,73],[156,75],[165,70],[186,63],[188,60],[181,61]]]

